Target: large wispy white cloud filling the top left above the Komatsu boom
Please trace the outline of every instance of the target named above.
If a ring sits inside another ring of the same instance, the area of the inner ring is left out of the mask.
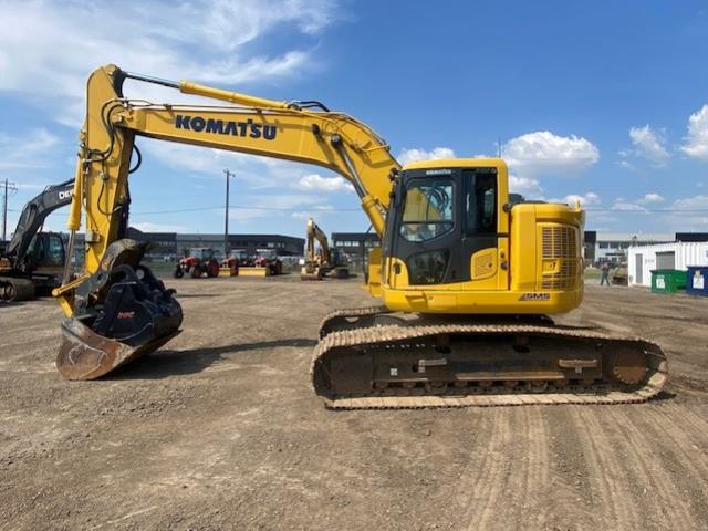
[[[87,75],[107,62],[158,77],[226,85],[269,83],[316,67],[311,51],[247,55],[241,49],[253,48],[284,24],[316,33],[336,13],[330,0],[162,1],[149,7],[138,0],[91,6],[80,0],[4,1],[0,91],[75,125],[83,115]]]

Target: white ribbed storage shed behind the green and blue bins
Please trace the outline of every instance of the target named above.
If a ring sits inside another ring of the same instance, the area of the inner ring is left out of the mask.
[[[680,269],[688,266],[708,266],[708,242],[658,243],[633,246],[627,250],[629,285],[652,285],[652,270]]]

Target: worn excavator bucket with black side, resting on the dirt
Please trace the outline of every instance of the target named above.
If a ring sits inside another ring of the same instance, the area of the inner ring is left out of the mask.
[[[139,263],[145,250],[134,240],[112,243],[98,271],[77,289],[75,313],[62,323],[56,356],[65,378],[98,378],[179,333],[181,306],[175,291]]]

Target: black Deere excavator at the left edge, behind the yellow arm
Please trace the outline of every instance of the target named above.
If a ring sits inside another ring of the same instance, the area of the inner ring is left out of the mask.
[[[62,236],[41,230],[46,217],[71,202],[74,180],[48,186],[22,209],[7,248],[0,249],[0,301],[49,295],[61,285],[66,257]]]

